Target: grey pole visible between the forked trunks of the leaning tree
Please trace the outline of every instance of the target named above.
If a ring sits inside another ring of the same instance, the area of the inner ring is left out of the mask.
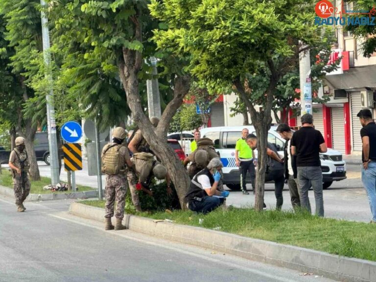
[[[157,59],[150,57],[152,71],[151,74],[157,75]],[[161,118],[161,97],[159,95],[159,85],[157,78],[151,78],[146,81],[147,89],[147,105],[149,109],[149,117]]]

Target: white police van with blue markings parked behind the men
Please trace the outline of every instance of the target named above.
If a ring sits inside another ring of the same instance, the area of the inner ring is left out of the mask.
[[[219,152],[223,163],[224,184],[230,189],[240,189],[239,168],[235,164],[235,144],[241,138],[241,131],[247,128],[249,133],[256,135],[256,130],[251,125],[246,126],[220,126],[201,129],[201,137],[210,138],[214,142],[217,152]],[[278,153],[283,157],[283,147],[285,140],[277,133],[277,126],[272,126],[268,133],[268,142],[274,144]],[[257,156],[257,151],[255,151]],[[321,169],[323,171],[323,188],[329,188],[333,181],[346,179],[346,163],[342,154],[338,151],[328,149],[328,152],[320,154]],[[246,179],[251,183],[249,175]]]

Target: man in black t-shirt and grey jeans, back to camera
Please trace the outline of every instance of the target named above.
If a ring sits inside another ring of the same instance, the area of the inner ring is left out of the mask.
[[[323,173],[321,171],[320,153],[325,153],[327,144],[320,131],[313,128],[312,115],[301,118],[302,128],[294,132],[291,139],[291,153],[296,155],[300,202],[302,208],[310,211],[308,189],[311,183],[316,202],[316,214],[324,216]]]

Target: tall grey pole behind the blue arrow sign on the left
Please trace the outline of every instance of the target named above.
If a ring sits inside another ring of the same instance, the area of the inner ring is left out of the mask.
[[[42,38],[43,38],[43,57],[45,59],[45,64],[47,67],[50,65],[50,54],[49,54],[49,31],[48,31],[48,20],[43,8],[46,6],[46,2],[41,0],[42,12]],[[51,184],[56,185],[60,182],[59,179],[59,158],[57,153],[57,137],[56,137],[56,122],[55,122],[55,108],[53,105],[53,89],[52,89],[52,73],[47,68],[46,77],[49,82],[50,90],[46,95],[47,100],[47,131],[48,131],[48,146],[49,146],[49,157],[50,157],[50,169],[51,169]]]

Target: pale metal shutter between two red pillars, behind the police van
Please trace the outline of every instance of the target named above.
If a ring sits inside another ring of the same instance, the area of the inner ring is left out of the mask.
[[[345,121],[343,108],[331,108],[333,149],[345,154]]]

